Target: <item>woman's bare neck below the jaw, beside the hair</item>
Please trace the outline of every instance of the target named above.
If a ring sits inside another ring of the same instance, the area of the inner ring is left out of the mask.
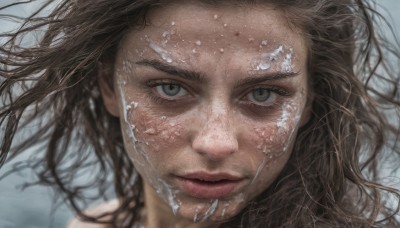
[[[172,209],[161,199],[154,189],[144,181],[144,202],[146,218],[144,227],[157,228],[203,228],[210,224],[194,223],[191,220],[174,215]],[[218,226],[215,226],[218,227]]]

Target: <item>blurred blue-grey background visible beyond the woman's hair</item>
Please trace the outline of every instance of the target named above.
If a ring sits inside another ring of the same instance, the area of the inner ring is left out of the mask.
[[[2,0],[0,7],[10,0]],[[400,0],[381,0],[379,1],[386,8],[392,18],[393,28],[399,34],[400,31]],[[34,5],[30,7],[16,6],[9,10],[9,13],[26,15]],[[382,9],[381,9],[382,11]],[[387,15],[385,11],[382,11]],[[0,19],[0,31],[9,30],[13,23]],[[0,176],[12,167],[12,164],[26,159],[31,151],[27,151],[17,160],[6,164],[0,170]],[[398,174],[397,176],[400,176]],[[42,228],[42,227],[64,227],[66,222],[71,219],[72,212],[66,205],[55,208],[53,202],[55,197],[53,191],[47,187],[35,186],[21,191],[18,187],[26,181],[30,181],[34,175],[25,171],[14,173],[0,181],[0,228]]]

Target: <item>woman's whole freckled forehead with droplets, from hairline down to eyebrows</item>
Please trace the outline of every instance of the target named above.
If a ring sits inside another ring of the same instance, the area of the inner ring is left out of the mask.
[[[280,48],[281,61],[290,54],[295,71],[305,68],[307,48],[302,33],[273,5],[211,7],[190,1],[152,9],[147,26],[129,33],[120,53],[132,56],[133,61],[161,56],[188,67],[249,70],[255,61]]]

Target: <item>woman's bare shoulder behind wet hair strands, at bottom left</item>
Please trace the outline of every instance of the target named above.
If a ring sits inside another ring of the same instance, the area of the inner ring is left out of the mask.
[[[89,216],[99,216],[103,213],[114,211],[115,209],[118,208],[118,206],[119,206],[119,200],[114,199],[114,200],[108,201],[106,203],[100,204],[99,206],[97,206],[95,208],[88,209],[87,211],[85,211],[85,213]],[[107,220],[107,219],[108,219],[107,217],[104,218],[104,220]],[[85,221],[81,221],[77,217],[73,218],[66,226],[66,228],[107,228],[107,227],[108,227],[108,225],[106,225],[106,224],[85,222]]]

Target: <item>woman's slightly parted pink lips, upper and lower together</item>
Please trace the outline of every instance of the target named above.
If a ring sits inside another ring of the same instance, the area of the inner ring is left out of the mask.
[[[195,172],[176,176],[178,185],[188,195],[202,199],[226,198],[244,178],[228,173]]]

